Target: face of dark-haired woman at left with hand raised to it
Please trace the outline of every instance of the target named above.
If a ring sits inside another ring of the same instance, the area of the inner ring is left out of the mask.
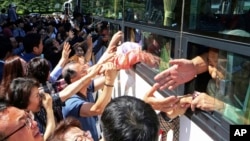
[[[41,108],[41,104],[42,104],[42,101],[41,101],[41,97],[39,94],[39,89],[38,87],[33,87],[31,89],[31,94],[29,97],[29,104],[28,104],[27,110],[32,111],[34,113],[39,112]]]

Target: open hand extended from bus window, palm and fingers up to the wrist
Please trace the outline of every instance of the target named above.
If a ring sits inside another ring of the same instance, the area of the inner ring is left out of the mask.
[[[180,84],[192,80],[197,74],[195,66],[191,60],[175,59],[170,60],[169,63],[172,65],[170,68],[154,77],[156,86],[161,90],[165,88],[173,90]]]

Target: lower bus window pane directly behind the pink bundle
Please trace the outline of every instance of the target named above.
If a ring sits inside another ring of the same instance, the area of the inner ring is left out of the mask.
[[[140,29],[126,28],[126,39],[137,42],[142,50],[159,57],[159,66],[152,68],[159,72],[169,67],[169,60],[174,57],[174,39]]]

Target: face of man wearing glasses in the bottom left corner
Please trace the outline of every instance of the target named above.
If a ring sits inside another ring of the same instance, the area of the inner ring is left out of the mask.
[[[8,141],[43,141],[37,122],[24,110],[8,107],[0,113],[0,132]]]

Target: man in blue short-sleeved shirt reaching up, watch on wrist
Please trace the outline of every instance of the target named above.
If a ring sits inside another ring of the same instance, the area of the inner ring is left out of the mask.
[[[89,86],[71,96],[65,102],[62,109],[64,118],[72,116],[81,122],[83,130],[89,130],[94,141],[98,141],[98,128],[96,127],[97,116],[101,115],[104,108],[111,99],[113,84],[117,75],[117,70],[113,63],[106,63],[102,66],[104,75],[92,81],[88,81]],[[88,74],[88,65],[82,65],[78,62],[71,62],[63,69],[63,77],[70,84]],[[93,92],[103,89],[102,94],[95,102]]]

